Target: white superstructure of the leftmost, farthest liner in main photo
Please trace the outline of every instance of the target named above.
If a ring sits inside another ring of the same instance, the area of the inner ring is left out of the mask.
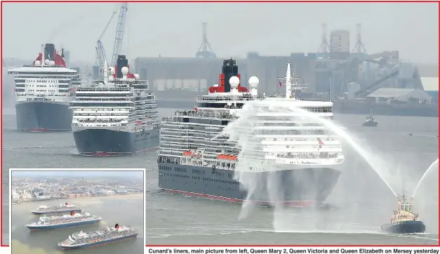
[[[55,65],[53,60],[42,58],[34,65],[9,69],[14,76],[15,97],[18,103],[48,101],[68,104],[74,99],[75,89],[81,83],[76,70]]]

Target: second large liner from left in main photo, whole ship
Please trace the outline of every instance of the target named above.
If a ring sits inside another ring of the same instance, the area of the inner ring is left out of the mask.
[[[159,147],[156,96],[147,80],[129,73],[119,55],[116,67],[102,68],[103,80],[76,91],[72,131],[81,155],[128,155]]]

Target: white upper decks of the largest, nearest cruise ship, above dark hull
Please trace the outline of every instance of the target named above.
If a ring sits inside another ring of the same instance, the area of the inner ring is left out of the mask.
[[[295,168],[337,168],[345,162],[338,138],[322,124],[311,122],[307,117],[288,109],[295,105],[324,119],[333,119],[333,102],[301,100],[292,93],[304,86],[291,75],[290,63],[286,71],[286,96],[269,97],[258,95],[259,80],[251,76],[250,91],[240,93],[239,78],[229,79],[229,93],[210,93],[196,98],[194,111],[175,112],[174,116],[162,119],[159,156],[183,165],[213,166],[235,170],[240,150],[227,137],[218,137],[229,122],[236,121],[243,106],[249,101],[253,109],[249,125],[242,130],[244,135],[256,142],[255,150],[241,153],[246,161],[274,163],[271,171]],[[218,85],[215,85],[218,86]],[[271,102],[278,108],[271,109]],[[269,105],[269,106],[268,106]],[[247,114],[247,113],[246,113]],[[243,170],[241,167],[241,170]],[[252,172],[267,171],[267,167],[249,166]]]

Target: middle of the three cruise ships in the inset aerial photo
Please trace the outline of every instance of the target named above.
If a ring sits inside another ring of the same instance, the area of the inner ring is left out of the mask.
[[[37,222],[25,225],[31,230],[42,229],[63,229],[65,227],[76,227],[81,225],[95,224],[102,220],[102,217],[93,215],[91,213],[75,213],[70,212],[70,215],[62,216],[43,216]]]

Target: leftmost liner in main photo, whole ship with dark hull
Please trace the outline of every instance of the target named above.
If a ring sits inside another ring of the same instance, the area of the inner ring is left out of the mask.
[[[74,69],[66,68],[64,53],[53,44],[42,45],[32,65],[9,69],[15,81],[18,131],[70,131],[75,89],[81,83]]]

